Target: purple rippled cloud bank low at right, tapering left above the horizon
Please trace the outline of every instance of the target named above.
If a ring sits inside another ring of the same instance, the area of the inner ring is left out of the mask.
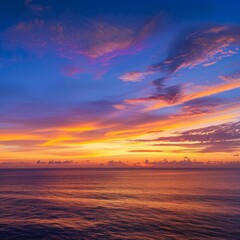
[[[142,142],[161,142],[154,146],[196,148],[199,152],[232,152],[240,149],[240,122],[229,122],[159,137]]]

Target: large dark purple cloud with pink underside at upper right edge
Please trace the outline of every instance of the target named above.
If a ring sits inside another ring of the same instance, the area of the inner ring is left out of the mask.
[[[168,57],[149,70],[176,72],[182,68],[205,67],[237,53],[230,46],[240,44],[240,27],[215,26],[184,32],[171,46]]]

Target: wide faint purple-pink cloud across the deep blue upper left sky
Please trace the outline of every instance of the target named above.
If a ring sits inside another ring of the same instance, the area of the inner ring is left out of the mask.
[[[31,1],[27,1],[27,6],[37,9]],[[127,26],[106,17],[76,18],[74,23],[67,18],[61,21],[36,18],[16,24],[3,38],[11,48],[18,46],[39,55],[57,54],[68,59],[85,56],[106,64],[116,56],[139,51],[158,21],[154,18]]]

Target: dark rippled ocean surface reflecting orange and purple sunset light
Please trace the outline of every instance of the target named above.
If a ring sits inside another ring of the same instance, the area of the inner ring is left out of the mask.
[[[0,170],[0,240],[240,239],[239,170]]]

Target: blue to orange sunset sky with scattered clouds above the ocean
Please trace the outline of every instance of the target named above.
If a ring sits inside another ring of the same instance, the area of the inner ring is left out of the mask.
[[[1,0],[0,168],[240,161],[239,10]]]

